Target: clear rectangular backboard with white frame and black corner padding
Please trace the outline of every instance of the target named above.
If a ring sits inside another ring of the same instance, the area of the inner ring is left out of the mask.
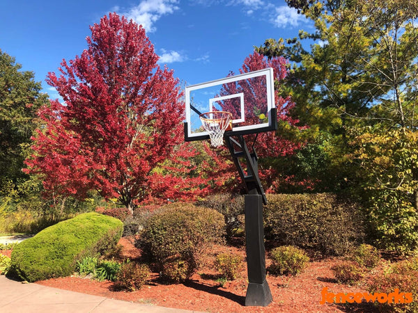
[[[229,136],[272,131],[277,124],[273,69],[258,70],[185,88],[185,141],[209,138],[201,113],[233,115]]]

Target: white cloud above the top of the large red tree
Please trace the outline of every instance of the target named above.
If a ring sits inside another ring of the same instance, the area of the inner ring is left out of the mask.
[[[178,10],[178,0],[143,0],[138,6],[134,6],[125,15],[127,19],[133,19],[134,22],[141,24],[148,33],[153,33],[154,26],[162,15],[172,14]]]

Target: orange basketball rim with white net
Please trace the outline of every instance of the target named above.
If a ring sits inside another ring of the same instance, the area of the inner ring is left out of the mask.
[[[232,113],[212,111],[199,115],[203,128],[208,131],[210,145],[219,147],[224,144],[224,132],[232,129]]]

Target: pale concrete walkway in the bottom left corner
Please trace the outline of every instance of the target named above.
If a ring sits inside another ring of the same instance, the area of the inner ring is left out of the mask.
[[[192,311],[171,309],[113,300],[101,296],[80,294],[40,284],[23,284],[0,275],[1,313],[84,313],[84,312],[149,312],[149,313],[191,313]]]

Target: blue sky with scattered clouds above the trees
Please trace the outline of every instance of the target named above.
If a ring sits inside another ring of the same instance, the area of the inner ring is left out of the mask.
[[[0,49],[45,83],[86,49],[89,26],[109,12],[134,19],[180,80],[191,85],[238,72],[254,46],[293,38],[312,25],[284,0],[0,0]]]

